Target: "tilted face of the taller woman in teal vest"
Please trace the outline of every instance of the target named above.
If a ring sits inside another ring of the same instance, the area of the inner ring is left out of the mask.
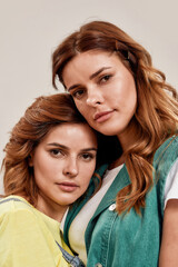
[[[103,135],[121,135],[136,111],[132,75],[116,53],[90,50],[63,69],[63,81],[89,125]]]

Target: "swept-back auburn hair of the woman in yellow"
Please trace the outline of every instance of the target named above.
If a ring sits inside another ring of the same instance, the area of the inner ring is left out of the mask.
[[[11,131],[4,148],[4,194],[22,195],[32,205],[36,204],[38,189],[33,170],[29,167],[29,157],[46,135],[63,123],[86,123],[68,93],[39,97],[26,110]]]

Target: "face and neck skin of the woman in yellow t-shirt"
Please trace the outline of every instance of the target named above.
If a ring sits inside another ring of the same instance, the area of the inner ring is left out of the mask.
[[[37,209],[60,221],[68,206],[87,190],[96,155],[97,137],[87,123],[52,128],[29,162],[39,188]]]

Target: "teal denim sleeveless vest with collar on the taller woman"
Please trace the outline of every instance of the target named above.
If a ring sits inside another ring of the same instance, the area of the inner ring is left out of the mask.
[[[126,216],[118,216],[112,209],[118,191],[130,182],[127,168],[123,165],[87,227],[88,267],[97,266],[97,264],[102,267],[158,266],[165,184],[177,159],[178,137],[169,138],[155,154],[155,185],[146,196],[146,208],[141,209],[141,216],[134,208]],[[99,175],[102,175],[106,168],[107,166],[102,166],[99,169]],[[91,180],[90,192],[93,192],[93,188]],[[89,196],[69,211],[65,227],[66,235],[72,219],[88,198]]]

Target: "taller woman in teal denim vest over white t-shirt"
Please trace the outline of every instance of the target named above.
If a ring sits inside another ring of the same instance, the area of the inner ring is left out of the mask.
[[[53,86],[58,78],[88,123],[117,136],[121,147],[120,157],[98,170],[110,180],[107,192],[68,214],[66,241],[88,267],[177,266],[176,89],[142,46],[106,21],[67,37],[52,55],[52,71]]]

